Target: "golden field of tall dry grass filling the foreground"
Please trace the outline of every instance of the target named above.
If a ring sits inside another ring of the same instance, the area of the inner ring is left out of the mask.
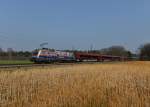
[[[150,62],[0,71],[0,107],[150,107]]]

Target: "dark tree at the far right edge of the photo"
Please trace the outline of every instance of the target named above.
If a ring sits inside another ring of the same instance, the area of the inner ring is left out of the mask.
[[[141,45],[139,50],[141,60],[150,60],[150,43]]]

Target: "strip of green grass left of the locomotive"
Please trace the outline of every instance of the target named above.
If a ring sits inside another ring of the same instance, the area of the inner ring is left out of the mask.
[[[0,60],[0,65],[32,64],[29,60]]]

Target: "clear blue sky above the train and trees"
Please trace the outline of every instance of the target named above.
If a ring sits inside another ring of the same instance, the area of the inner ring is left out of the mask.
[[[93,49],[150,42],[150,0],[0,0],[0,47]]]

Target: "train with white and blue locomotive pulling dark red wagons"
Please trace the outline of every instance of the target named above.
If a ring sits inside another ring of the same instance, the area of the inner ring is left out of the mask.
[[[127,57],[102,55],[89,52],[66,52],[60,50],[39,49],[32,52],[31,61],[35,63],[83,62],[83,61],[125,61]]]

